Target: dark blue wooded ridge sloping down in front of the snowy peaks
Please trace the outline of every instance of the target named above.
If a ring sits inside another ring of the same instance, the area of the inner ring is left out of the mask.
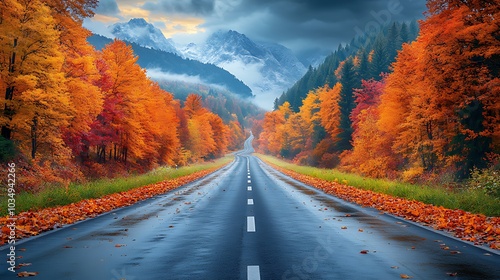
[[[96,49],[104,48],[112,39],[92,35],[88,42]],[[136,43],[129,43],[138,56],[137,63],[148,70],[148,75],[158,80],[195,80],[196,83],[215,85],[239,95],[252,97],[252,90],[233,74],[213,64],[201,63],[196,60],[185,59],[174,53],[142,47]],[[175,94],[175,92],[174,92]]]

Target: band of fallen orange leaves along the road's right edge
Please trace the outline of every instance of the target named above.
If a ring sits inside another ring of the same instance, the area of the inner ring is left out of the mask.
[[[420,201],[361,190],[271,165],[298,181],[343,200],[388,212],[437,230],[448,231],[455,237],[471,241],[476,245],[488,244],[490,248],[500,250],[500,217],[486,217],[459,209],[451,210]]]

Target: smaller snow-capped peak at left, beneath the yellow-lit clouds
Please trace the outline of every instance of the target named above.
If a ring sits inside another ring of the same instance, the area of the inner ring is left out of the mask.
[[[160,29],[142,18],[134,18],[126,23],[115,23],[109,26],[109,31],[120,40],[179,54],[171,39],[165,38]]]

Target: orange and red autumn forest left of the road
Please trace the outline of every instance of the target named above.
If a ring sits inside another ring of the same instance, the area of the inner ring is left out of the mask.
[[[222,120],[199,95],[174,99],[130,45],[95,50],[82,22],[96,5],[0,2],[0,161],[15,160],[21,190],[182,166],[242,145],[236,115]]]

